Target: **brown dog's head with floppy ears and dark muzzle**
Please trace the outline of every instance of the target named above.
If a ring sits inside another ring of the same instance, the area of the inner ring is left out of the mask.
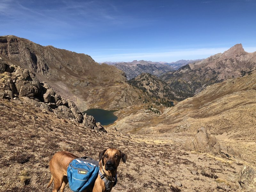
[[[99,159],[100,161],[102,161],[102,165],[104,166],[106,171],[115,171],[121,159],[124,163],[126,162],[126,155],[121,150],[105,149],[103,151],[100,151]]]

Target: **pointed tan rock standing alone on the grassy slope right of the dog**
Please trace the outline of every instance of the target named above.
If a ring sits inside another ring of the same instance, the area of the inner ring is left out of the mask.
[[[195,139],[188,139],[185,142],[186,150],[206,151],[220,153],[220,144],[214,136],[207,133],[207,129],[201,127],[197,130]]]

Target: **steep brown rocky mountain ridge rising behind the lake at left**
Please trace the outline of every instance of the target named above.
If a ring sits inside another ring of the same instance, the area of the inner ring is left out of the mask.
[[[117,109],[141,104],[143,93],[133,89],[124,72],[98,64],[89,55],[41,46],[16,36],[0,36],[0,57],[9,65],[34,72],[64,98],[88,108]]]

